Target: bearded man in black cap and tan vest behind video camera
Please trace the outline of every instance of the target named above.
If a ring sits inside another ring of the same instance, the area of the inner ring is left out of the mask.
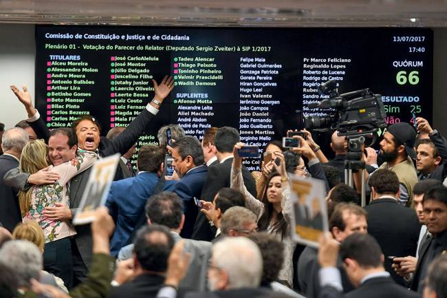
[[[396,173],[400,182],[399,202],[404,206],[411,206],[413,186],[417,183],[417,173],[413,164],[416,158],[413,149],[415,140],[415,129],[408,123],[401,122],[389,126],[383,135],[383,140],[380,141],[380,156],[384,163],[379,169],[389,169]],[[365,173],[365,177],[368,180],[368,173]],[[354,178],[356,188],[360,191],[361,173],[356,173]]]

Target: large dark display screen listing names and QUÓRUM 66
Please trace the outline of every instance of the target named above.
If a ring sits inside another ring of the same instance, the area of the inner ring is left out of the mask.
[[[236,127],[263,148],[322,114],[309,104],[327,97],[317,87],[330,79],[340,93],[382,94],[389,124],[413,113],[431,121],[433,31],[36,26],[36,107],[49,128],[82,114],[104,133],[125,126],[153,98],[151,79],[165,74],[175,88],[139,145],[177,123],[198,138],[207,127]]]

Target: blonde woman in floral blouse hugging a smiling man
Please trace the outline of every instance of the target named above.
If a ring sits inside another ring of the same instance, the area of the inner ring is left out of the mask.
[[[32,174],[49,167],[47,155],[48,147],[43,140],[28,142],[21,154],[20,171]],[[72,287],[73,279],[72,247],[69,237],[75,235],[76,231],[69,221],[50,220],[44,215],[43,210],[56,204],[69,206],[67,183],[75,175],[91,167],[97,157],[94,152],[78,149],[76,158],[48,168],[59,175],[54,184],[34,185],[27,191],[19,191],[23,222],[36,221],[45,235],[43,267],[61,277],[67,288]]]

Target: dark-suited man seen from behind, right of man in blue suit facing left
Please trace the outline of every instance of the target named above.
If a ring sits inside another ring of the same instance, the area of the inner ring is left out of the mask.
[[[201,193],[201,200],[211,202],[219,189],[230,187],[230,173],[233,161],[233,147],[239,142],[239,132],[233,127],[220,127],[215,136],[215,146],[217,149],[217,160],[219,164],[208,167],[208,175],[204,189]],[[256,183],[252,173],[242,167],[243,183],[247,190],[256,197]],[[216,234],[216,229],[211,228],[206,216],[203,213],[197,215],[194,224],[192,238],[195,240],[211,241]]]

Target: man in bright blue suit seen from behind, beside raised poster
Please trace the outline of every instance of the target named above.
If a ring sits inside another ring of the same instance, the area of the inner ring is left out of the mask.
[[[138,170],[135,177],[114,181],[111,184],[106,206],[116,223],[110,240],[113,257],[126,244],[135,225],[144,215],[144,205],[151,197],[162,174],[164,151],[154,145],[146,145],[138,152]]]

